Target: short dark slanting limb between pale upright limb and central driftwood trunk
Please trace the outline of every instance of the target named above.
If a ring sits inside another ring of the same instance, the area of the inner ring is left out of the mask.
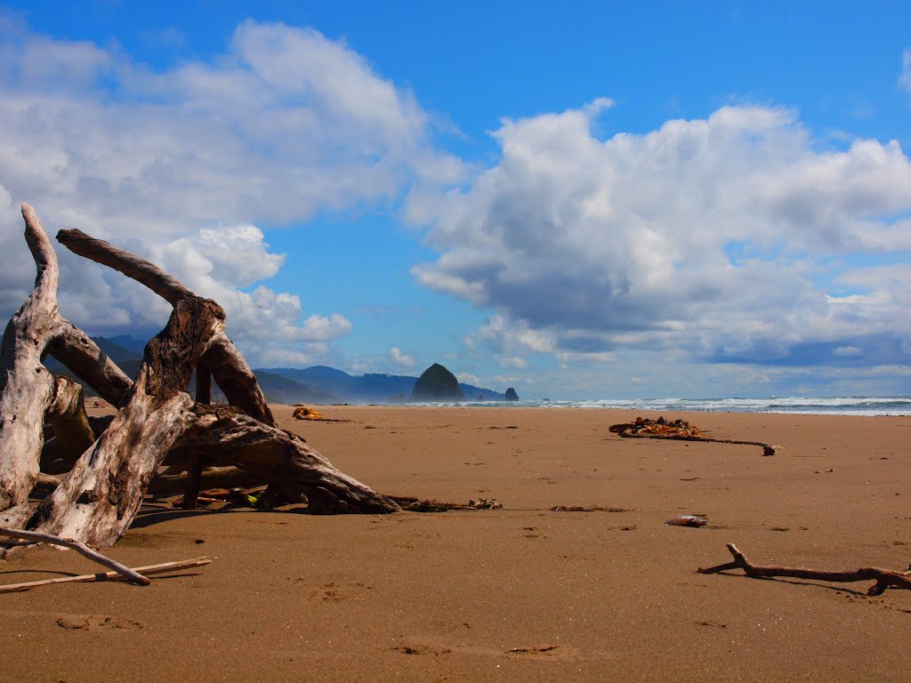
[[[72,322],[63,320],[59,336],[47,352],[62,362],[111,405],[120,405],[133,386],[126,372],[118,368],[88,335]]]

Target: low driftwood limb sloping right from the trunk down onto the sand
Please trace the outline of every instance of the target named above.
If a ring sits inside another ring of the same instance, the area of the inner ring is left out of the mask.
[[[204,453],[219,464],[234,464],[274,483],[283,501],[303,494],[308,512],[389,513],[394,500],[337,470],[296,434],[254,420],[231,406],[193,406],[195,423],[175,443],[174,452]]]

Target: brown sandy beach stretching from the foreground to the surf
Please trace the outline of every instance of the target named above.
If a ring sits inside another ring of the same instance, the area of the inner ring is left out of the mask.
[[[909,417],[668,415],[783,446],[763,457],[609,434],[629,412],[321,411],[350,422],[276,409],[384,493],[505,508],[314,517],[146,505],[111,556],[212,564],[148,587],[0,596],[0,680],[911,680],[911,592],[695,573],[726,562],[731,542],[762,564],[905,569]],[[664,524],[683,514],[710,523]],[[96,570],[38,549],[0,566],[0,581]]]

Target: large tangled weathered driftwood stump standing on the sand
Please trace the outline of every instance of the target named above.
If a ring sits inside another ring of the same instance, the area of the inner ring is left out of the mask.
[[[168,325],[148,342],[131,382],[87,334],[60,316],[56,254],[28,205],[23,217],[38,274],[34,291],[6,327],[0,355],[0,524],[113,545],[169,454],[189,459],[191,479],[203,462],[234,465],[268,484],[274,502],[305,499],[312,513],[400,509],[276,426],[250,366],[225,333],[218,303],[196,296],[147,260],[78,230],[61,230],[57,240],[67,249],[119,270],[174,307]],[[97,441],[81,387],[47,372],[48,353],[119,407]],[[194,370],[200,377],[197,401],[187,392]],[[229,406],[208,404],[210,378]],[[54,434],[47,444],[46,424]],[[28,496],[36,483],[54,481],[40,469],[51,460],[72,469],[33,509]],[[194,486],[189,484],[190,497]]]

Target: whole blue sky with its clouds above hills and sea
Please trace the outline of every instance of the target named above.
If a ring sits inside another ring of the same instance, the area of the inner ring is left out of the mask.
[[[254,367],[522,398],[911,393],[905,2],[0,0],[19,213],[219,301]],[[66,250],[60,308],[169,305]]]

